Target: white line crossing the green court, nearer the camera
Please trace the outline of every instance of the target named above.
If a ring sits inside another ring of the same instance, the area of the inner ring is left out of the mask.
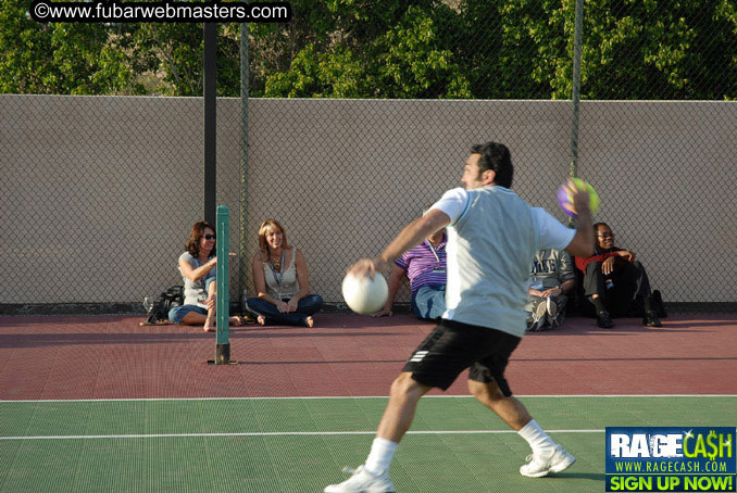
[[[547,433],[603,433],[604,430],[546,430]],[[408,431],[407,434],[507,434],[514,430],[427,430]],[[108,440],[108,439],[170,439],[197,437],[322,437],[346,434],[376,434],[373,431],[264,431],[245,433],[163,433],[163,434],[73,434],[49,437],[0,437],[0,441],[9,440]]]

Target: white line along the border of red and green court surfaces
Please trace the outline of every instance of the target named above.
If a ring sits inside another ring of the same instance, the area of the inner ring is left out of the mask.
[[[579,399],[579,397],[737,397],[737,394],[577,394],[577,395],[517,395],[521,399]],[[29,400],[7,400],[0,401],[0,404],[13,403],[64,403],[64,402],[188,402],[188,401],[291,401],[291,400],[345,400],[345,399],[389,399],[388,395],[313,395],[296,397],[136,397],[136,399],[29,399]],[[473,395],[425,395],[423,399],[474,399]]]

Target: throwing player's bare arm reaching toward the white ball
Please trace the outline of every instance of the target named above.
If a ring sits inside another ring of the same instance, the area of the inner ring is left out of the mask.
[[[399,255],[419,244],[423,239],[450,224],[450,216],[440,210],[433,208],[422,217],[414,219],[402,229],[397,238],[384,249],[384,252],[374,260],[362,258],[348,268],[353,276],[371,276],[374,278],[376,270],[386,270]]]

